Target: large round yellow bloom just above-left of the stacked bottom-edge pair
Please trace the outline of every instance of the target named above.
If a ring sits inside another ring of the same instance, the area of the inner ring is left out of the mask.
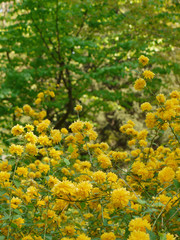
[[[111,202],[116,208],[124,208],[128,205],[130,192],[125,188],[118,188],[112,192]]]

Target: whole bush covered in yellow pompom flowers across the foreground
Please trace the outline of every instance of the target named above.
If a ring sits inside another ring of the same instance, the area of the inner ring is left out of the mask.
[[[145,66],[149,59],[141,56]],[[145,79],[154,73],[145,70]],[[148,87],[139,78],[135,89]],[[40,104],[45,94],[35,101]],[[93,125],[79,118],[53,129],[46,112],[29,105],[31,117],[12,128],[12,144],[0,162],[0,239],[174,240],[179,236],[180,92],[145,102],[147,129],[129,120],[120,131],[132,151],[98,143]],[[169,131],[163,145],[156,138]],[[3,150],[0,149],[0,154]],[[126,163],[120,168],[119,163]]]

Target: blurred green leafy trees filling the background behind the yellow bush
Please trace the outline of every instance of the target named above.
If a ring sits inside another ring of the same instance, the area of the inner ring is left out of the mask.
[[[119,140],[113,147],[123,146],[122,114],[139,120],[134,103],[180,83],[179,9],[178,0],[3,1],[1,141],[18,122],[15,108],[32,105],[38,92],[53,86],[56,98],[44,108],[56,128],[76,119],[74,106],[81,103],[81,118],[96,122],[101,140],[113,133]],[[144,95],[133,90],[142,54],[156,74]]]

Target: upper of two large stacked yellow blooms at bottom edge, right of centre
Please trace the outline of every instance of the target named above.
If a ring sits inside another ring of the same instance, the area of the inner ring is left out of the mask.
[[[146,219],[136,218],[130,221],[129,223],[129,231],[141,231],[146,232],[146,228],[151,230],[151,225]]]

